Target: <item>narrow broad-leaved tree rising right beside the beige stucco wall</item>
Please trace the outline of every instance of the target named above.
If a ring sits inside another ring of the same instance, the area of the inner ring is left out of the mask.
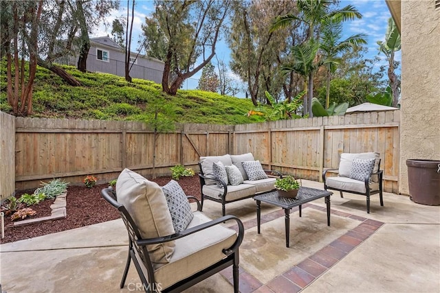
[[[393,93],[393,106],[399,104],[399,79],[395,73],[395,52],[401,49],[400,33],[395,25],[393,18],[388,19],[385,41],[378,41],[379,51],[385,54],[388,61],[388,79],[390,80],[391,91]]]

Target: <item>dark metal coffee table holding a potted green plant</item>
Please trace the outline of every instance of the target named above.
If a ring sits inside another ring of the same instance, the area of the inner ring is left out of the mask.
[[[327,205],[327,226],[330,226],[330,196],[333,193],[326,190],[314,189],[309,187],[300,187],[296,199],[294,198],[282,198],[278,196],[276,190],[269,191],[265,194],[259,194],[254,196],[256,200],[256,222],[258,227],[258,233],[260,234],[260,223],[261,223],[261,202],[267,204],[272,204],[276,207],[281,207],[284,209],[285,213],[285,230],[286,230],[286,247],[289,247],[289,228],[290,228],[290,209],[294,207],[299,207],[301,216],[301,206],[307,202],[317,200],[318,198],[325,198],[325,204]]]

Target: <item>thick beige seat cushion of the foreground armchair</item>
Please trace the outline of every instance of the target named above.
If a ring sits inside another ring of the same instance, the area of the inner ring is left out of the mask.
[[[196,211],[188,228],[209,222],[211,219]],[[166,265],[155,268],[155,279],[162,289],[190,277],[225,258],[222,253],[236,240],[236,232],[221,224],[175,240],[175,251]],[[144,273],[146,273],[143,267]]]

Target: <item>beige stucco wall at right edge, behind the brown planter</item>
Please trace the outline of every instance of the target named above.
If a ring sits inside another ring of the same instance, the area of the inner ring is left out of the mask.
[[[401,1],[399,192],[409,194],[407,159],[440,160],[440,10]]]

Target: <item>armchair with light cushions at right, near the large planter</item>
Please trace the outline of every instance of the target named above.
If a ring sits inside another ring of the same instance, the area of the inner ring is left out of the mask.
[[[370,213],[370,196],[379,194],[380,205],[384,206],[382,197],[382,176],[380,154],[364,152],[358,154],[342,153],[338,169],[326,169],[322,174],[324,189],[332,189],[351,194],[366,196],[366,213]],[[338,170],[338,176],[327,176],[327,172]]]

